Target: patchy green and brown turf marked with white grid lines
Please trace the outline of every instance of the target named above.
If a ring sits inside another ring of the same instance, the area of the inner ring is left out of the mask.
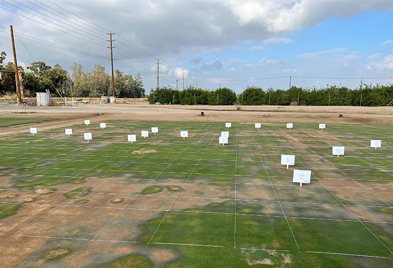
[[[5,252],[18,237],[41,237],[16,242],[21,252],[34,250],[10,265],[393,265],[390,127],[116,120],[99,127],[1,141]],[[224,147],[222,131],[229,131]],[[370,139],[382,148],[369,148]],[[336,145],[344,156],[332,155]],[[281,154],[296,155],[295,165],[286,169]],[[311,170],[311,183],[299,188],[293,169]]]

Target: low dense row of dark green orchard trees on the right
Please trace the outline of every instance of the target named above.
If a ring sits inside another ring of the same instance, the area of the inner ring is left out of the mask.
[[[181,105],[320,105],[320,106],[387,106],[393,100],[393,85],[364,85],[350,89],[345,86],[325,88],[302,88],[264,90],[248,86],[237,94],[229,88],[220,87],[203,90],[192,85],[183,91],[171,87],[151,89],[148,95],[150,104]]]

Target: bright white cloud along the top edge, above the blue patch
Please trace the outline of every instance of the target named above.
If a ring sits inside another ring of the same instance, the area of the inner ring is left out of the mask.
[[[332,0],[231,0],[228,7],[242,26],[263,25],[269,32],[281,33],[316,25],[333,16],[349,17],[370,10],[393,7],[391,1]]]

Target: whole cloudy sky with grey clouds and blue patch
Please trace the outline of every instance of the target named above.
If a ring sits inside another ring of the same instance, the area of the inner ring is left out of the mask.
[[[391,0],[0,0],[0,51],[19,65],[76,62],[142,75],[146,93],[185,84],[237,93],[393,83]]]

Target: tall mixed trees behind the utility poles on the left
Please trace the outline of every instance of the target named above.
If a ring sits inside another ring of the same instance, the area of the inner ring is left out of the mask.
[[[15,65],[5,63],[6,53],[0,54],[0,95],[16,93]],[[36,92],[47,89],[53,96],[99,97],[113,95],[112,76],[99,64],[91,71],[84,71],[81,64],[71,66],[71,74],[59,64],[53,67],[43,61],[31,63],[23,68],[18,66],[19,84],[23,98],[35,97]],[[118,98],[142,98],[145,96],[141,75],[125,74],[115,70],[115,96]]]

